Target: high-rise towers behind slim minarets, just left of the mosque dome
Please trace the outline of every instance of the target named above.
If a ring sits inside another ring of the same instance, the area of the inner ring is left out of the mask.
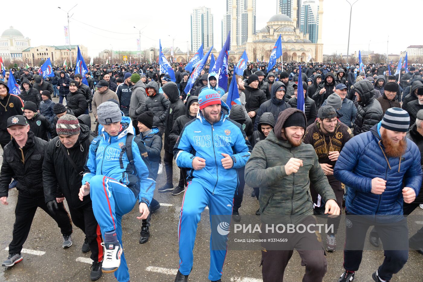
[[[255,34],[255,1],[252,0],[253,8],[253,34]],[[233,9],[235,10],[235,15],[233,15]],[[248,39],[248,0],[226,0],[226,14],[223,15],[222,20],[222,45],[225,43],[228,32],[231,32],[231,42],[233,41],[233,36],[236,38],[236,45],[241,45],[247,42]],[[236,20],[233,21],[234,17]],[[233,25],[235,25],[233,27]]]

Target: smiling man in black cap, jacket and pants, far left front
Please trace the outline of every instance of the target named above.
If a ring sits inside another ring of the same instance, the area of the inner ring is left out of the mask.
[[[42,164],[47,142],[34,136],[24,116],[11,116],[7,119],[7,130],[13,139],[5,146],[3,164],[0,171],[0,202],[8,205],[9,183],[14,177],[18,180],[19,191],[15,209],[13,239],[9,244],[9,256],[2,266],[10,267],[22,261],[22,246],[31,229],[37,207],[41,207],[60,227],[63,235],[63,248],[72,246],[72,225],[63,202],[52,214],[45,203],[42,181]]]

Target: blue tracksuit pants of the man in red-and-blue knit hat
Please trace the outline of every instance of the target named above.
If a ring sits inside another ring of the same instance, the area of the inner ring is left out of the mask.
[[[188,275],[192,269],[195,235],[201,212],[209,206],[211,236],[210,236],[210,270],[209,279],[219,280],[222,276],[225,262],[228,235],[222,236],[214,232],[217,224],[222,221],[231,223],[233,197],[212,194],[202,183],[195,179],[188,182],[187,190],[182,200],[179,218],[179,271]]]

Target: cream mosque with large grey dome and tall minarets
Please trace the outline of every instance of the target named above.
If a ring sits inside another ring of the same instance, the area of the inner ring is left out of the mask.
[[[294,10],[296,10],[296,0],[293,1]],[[311,55],[313,61],[323,61],[323,42],[321,39],[323,26],[323,0],[319,0],[319,30],[317,43],[313,43],[309,39],[308,33],[300,32],[297,26],[297,13],[293,13],[294,19],[291,19],[285,14],[275,14],[269,18],[266,26],[260,30],[256,30],[255,34],[252,33],[252,21],[248,18],[248,39],[242,45],[237,45],[234,40],[231,42],[231,51],[229,56],[233,56],[231,61],[236,61],[242,55],[244,50],[247,50],[247,56],[249,61],[269,61],[270,53],[275,42],[281,35],[282,39],[282,58],[283,61],[307,61],[308,55]],[[278,58],[279,61],[279,58]]]

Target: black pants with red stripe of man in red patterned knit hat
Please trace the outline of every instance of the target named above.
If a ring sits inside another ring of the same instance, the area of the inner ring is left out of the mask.
[[[69,201],[68,201],[69,205]],[[100,226],[97,224],[96,217],[93,213],[93,206],[86,205],[85,207],[72,208],[69,206],[69,213],[71,214],[72,222],[76,227],[84,232],[88,240],[88,245],[91,249],[91,260],[103,260],[103,242]]]

